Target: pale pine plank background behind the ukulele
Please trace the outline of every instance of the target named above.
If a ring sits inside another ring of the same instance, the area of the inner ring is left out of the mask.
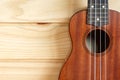
[[[109,0],[120,11],[120,0]],[[70,17],[87,0],[1,0],[0,79],[58,80],[71,51]]]

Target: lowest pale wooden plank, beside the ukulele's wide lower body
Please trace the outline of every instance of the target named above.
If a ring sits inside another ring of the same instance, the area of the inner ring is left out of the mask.
[[[1,80],[58,80],[63,62],[1,62]]]

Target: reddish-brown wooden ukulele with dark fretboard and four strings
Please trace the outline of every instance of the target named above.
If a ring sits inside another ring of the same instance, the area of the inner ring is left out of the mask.
[[[120,13],[108,0],[88,0],[70,20],[71,55],[59,80],[120,80]]]

